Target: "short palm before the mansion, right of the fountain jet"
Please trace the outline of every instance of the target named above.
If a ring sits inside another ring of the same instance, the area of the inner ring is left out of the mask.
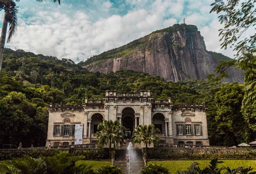
[[[139,125],[135,128],[133,132],[132,139],[134,143],[143,142],[147,147],[154,141],[158,139],[156,134],[159,132],[159,129],[156,129],[154,125]]]

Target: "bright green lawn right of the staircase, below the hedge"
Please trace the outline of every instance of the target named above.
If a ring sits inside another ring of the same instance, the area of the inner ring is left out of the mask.
[[[165,166],[171,173],[176,173],[178,170],[186,170],[190,167],[191,163],[194,161],[199,163],[200,168],[205,168],[209,165],[210,160],[180,160],[180,161],[149,161],[153,164],[162,164]],[[230,168],[237,168],[239,166],[244,166],[245,168],[251,166],[256,171],[256,160],[220,160],[223,163],[218,164],[219,166],[229,166]]]

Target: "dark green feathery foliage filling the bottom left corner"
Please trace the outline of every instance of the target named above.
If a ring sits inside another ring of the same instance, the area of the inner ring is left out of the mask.
[[[68,151],[62,151],[52,157],[32,158],[25,156],[0,163],[1,172],[10,170],[18,173],[92,173],[91,166],[76,165],[83,156],[68,156]]]

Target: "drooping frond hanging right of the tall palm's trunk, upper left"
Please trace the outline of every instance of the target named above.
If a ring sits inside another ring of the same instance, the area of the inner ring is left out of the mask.
[[[10,10],[10,17],[9,17],[9,20],[8,20],[8,23],[9,23],[9,34],[8,34],[7,42],[10,42],[12,36],[16,32],[17,21],[18,21],[18,19],[17,19],[18,9],[16,8],[15,5],[11,6],[10,9],[11,9]]]

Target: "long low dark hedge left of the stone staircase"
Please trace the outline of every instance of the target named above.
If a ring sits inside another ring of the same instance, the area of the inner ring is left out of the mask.
[[[38,157],[46,157],[46,156],[54,156],[59,153],[59,149],[35,149],[35,150],[0,150],[0,161],[20,158],[24,155],[38,158]],[[69,156],[77,156],[82,155],[84,159],[92,160],[92,159],[110,159],[109,149],[86,149],[86,150],[74,150],[72,153],[69,153]]]

